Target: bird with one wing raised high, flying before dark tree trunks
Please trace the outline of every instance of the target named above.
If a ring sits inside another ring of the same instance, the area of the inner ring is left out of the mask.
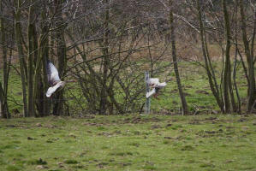
[[[51,97],[51,95],[57,91],[61,90],[66,85],[65,81],[60,80],[57,68],[51,63],[47,62],[46,66],[47,78],[51,85],[46,92],[46,97]]]

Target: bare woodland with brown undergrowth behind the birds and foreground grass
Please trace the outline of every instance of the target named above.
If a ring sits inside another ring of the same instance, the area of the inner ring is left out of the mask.
[[[1,116],[255,112],[253,0],[0,0]],[[45,63],[68,83],[54,97]]]

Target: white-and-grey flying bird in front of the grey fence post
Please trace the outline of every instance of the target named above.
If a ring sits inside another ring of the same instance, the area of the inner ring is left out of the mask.
[[[151,97],[154,95],[154,97],[158,97],[158,92],[160,89],[164,88],[166,86],[166,82],[160,83],[158,78],[151,78],[147,81],[147,84],[152,87],[152,91],[146,92],[146,98]]]

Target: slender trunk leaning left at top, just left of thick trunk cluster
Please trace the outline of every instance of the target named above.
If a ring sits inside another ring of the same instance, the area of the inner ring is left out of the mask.
[[[21,0],[15,1],[15,40],[18,49],[20,69],[21,69],[21,84],[23,96],[23,115],[28,116],[27,112],[27,87],[26,87],[26,62],[24,59],[24,52],[22,47],[22,32],[21,32]]]

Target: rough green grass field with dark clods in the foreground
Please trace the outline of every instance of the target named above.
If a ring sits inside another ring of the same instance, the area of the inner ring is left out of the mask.
[[[0,120],[0,170],[253,170],[255,160],[255,115]]]

